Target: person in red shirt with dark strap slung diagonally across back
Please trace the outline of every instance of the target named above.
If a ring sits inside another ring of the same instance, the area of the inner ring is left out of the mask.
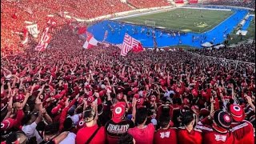
[[[85,143],[97,143],[105,144],[106,143],[106,132],[104,127],[99,127],[97,125],[98,112],[97,106],[87,107],[84,112],[84,122],[85,126],[78,130],[77,136],[75,138],[76,144],[85,144]],[[92,137],[92,138],[91,138]],[[90,142],[89,142],[90,141]]]

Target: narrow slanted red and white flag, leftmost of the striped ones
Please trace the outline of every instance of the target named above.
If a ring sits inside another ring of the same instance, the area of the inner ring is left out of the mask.
[[[40,42],[38,43],[38,46],[36,46],[34,50],[37,50],[37,51],[46,50],[51,39],[50,34],[48,34],[49,30],[50,30],[50,26],[46,27],[46,29],[42,33],[42,37]]]

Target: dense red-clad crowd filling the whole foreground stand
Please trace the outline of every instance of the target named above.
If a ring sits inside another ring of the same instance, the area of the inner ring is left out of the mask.
[[[68,26],[50,49],[35,44],[1,61],[6,143],[254,143],[255,67],[182,50],[83,50]]]

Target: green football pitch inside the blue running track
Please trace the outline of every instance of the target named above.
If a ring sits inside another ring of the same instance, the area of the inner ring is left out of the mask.
[[[118,21],[138,25],[157,26],[166,30],[182,30],[185,32],[202,33],[234,14],[232,10],[198,10],[177,8],[167,12],[146,14]]]

